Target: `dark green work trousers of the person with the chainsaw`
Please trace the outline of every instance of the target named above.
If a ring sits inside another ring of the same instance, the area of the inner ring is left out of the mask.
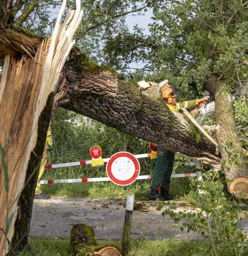
[[[170,176],[172,176],[175,153],[158,146],[157,162],[152,176],[151,188],[159,190],[162,187],[169,191]]]

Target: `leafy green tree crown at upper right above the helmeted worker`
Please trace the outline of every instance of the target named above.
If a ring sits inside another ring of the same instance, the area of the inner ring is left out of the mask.
[[[143,59],[144,69],[163,73],[185,92],[200,92],[206,77],[214,75],[247,97],[246,4],[166,1],[153,9],[150,35],[135,29],[133,34],[124,31],[108,39],[106,61],[118,68]]]

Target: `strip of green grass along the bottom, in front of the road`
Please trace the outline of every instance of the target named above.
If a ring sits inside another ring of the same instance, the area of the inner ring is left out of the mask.
[[[19,256],[71,256],[69,239],[31,237],[29,238],[29,244],[30,250],[20,253]],[[120,246],[120,241],[116,241],[116,245]],[[128,255],[189,256],[191,255],[191,250],[200,245],[201,242],[176,239],[162,241],[132,239],[130,243],[130,252]]]

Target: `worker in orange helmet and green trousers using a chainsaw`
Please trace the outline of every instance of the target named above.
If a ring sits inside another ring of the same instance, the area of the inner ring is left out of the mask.
[[[209,96],[206,96],[201,99],[177,103],[177,96],[180,96],[181,92],[175,86],[169,86],[168,81],[166,86],[163,86],[163,88],[161,88],[161,91],[163,100],[165,101],[167,107],[172,111],[179,111],[180,108],[190,108],[200,102],[209,99]],[[196,114],[198,114],[198,112],[198,109],[194,109],[190,113],[191,115],[195,116]],[[152,176],[149,199],[158,199],[160,190],[160,200],[168,201],[172,200],[172,196],[169,194],[169,185],[170,177],[173,171],[175,153],[163,148],[162,146],[158,146],[157,148],[157,162]]]

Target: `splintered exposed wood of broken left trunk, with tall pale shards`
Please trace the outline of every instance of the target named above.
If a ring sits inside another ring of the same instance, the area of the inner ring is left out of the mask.
[[[66,7],[63,2],[53,35],[42,41],[36,54],[15,59],[6,55],[0,75],[0,143],[7,169],[0,159],[0,255],[11,242],[18,198],[24,188],[27,164],[36,145],[38,119],[46,100],[54,91],[60,71],[74,41],[72,37],[82,19],[80,0],[76,10],[69,11],[65,22],[60,20]],[[9,227],[8,229],[6,227]],[[6,234],[6,235],[5,235]]]

